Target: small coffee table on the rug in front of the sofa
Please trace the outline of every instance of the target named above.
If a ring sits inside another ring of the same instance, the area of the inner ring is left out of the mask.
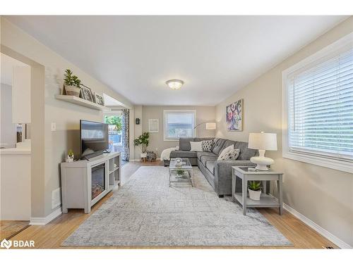
[[[182,165],[176,165],[176,163],[176,158],[172,158],[169,163],[169,187],[172,182],[190,182],[193,187],[193,166],[189,158],[181,158]],[[181,172],[184,173],[181,175]]]

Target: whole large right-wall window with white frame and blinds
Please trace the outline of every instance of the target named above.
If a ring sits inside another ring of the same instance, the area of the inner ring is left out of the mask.
[[[353,172],[353,43],[294,65],[283,82],[283,156]]]

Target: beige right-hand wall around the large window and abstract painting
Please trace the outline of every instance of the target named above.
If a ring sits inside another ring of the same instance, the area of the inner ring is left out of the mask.
[[[249,132],[277,133],[273,168],[285,172],[284,201],[345,243],[353,246],[353,175],[282,158],[282,71],[353,31],[353,17],[216,106],[217,137],[248,141]],[[228,132],[225,106],[244,99],[244,131]]]

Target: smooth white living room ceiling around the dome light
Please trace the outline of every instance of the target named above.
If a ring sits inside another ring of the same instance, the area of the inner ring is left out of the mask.
[[[346,17],[6,18],[132,103],[214,106]]]

